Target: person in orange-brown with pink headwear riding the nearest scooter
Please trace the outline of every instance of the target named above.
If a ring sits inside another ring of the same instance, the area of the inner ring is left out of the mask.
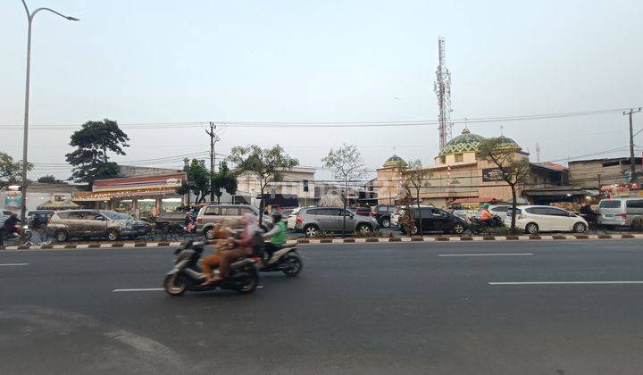
[[[254,214],[246,213],[241,217],[241,224],[244,228],[239,237],[230,240],[231,245],[234,246],[233,248],[221,246],[223,248],[220,247],[213,254],[203,258],[201,265],[205,274],[204,285],[227,278],[232,262],[253,253],[255,234],[259,229],[259,220]],[[212,269],[216,266],[219,266],[219,275],[212,278]]]

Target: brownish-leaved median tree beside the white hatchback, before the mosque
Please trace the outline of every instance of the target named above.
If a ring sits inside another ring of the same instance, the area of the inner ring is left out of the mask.
[[[517,205],[516,191],[518,185],[525,183],[529,177],[530,162],[528,159],[516,159],[515,147],[506,147],[505,137],[487,138],[478,146],[478,157],[490,162],[499,170],[498,179],[502,179],[512,190],[511,229],[515,229],[515,211]]]

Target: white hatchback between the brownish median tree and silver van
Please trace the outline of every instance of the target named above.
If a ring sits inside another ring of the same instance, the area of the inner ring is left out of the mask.
[[[511,212],[506,212],[505,224],[511,225]],[[562,208],[548,205],[521,205],[516,208],[516,228],[529,234],[539,231],[565,231],[583,233],[589,227],[585,219]]]

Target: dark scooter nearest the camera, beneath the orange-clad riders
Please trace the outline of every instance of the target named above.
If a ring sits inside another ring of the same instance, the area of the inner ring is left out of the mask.
[[[259,273],[255,265],[258,258],[255,256],[243,258],[230,264],[228,278],[201,285],[205,281],[205,274],[198,261],[203,254],[205,245],[205,242],[189,241],[174,252],[177,255],[174,268],[163,279],[163,289],[167,294],[181,296],[186,291],[205,292],[214,289],[236,290],[242,294],[255,291],[259,284]],[[218,271],[213,273],[216,272]]]

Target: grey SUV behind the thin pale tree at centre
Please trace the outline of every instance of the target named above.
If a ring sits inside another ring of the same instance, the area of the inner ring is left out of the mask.
[[[347,231],[369,234],[380,229],[380,224],[372,216],[362,216],[347,210]],[[342,207],[308,207],[299,210],[295,229],[304,232],[306,237],[317,236],[321,231],[340,232],[344,225]]]

